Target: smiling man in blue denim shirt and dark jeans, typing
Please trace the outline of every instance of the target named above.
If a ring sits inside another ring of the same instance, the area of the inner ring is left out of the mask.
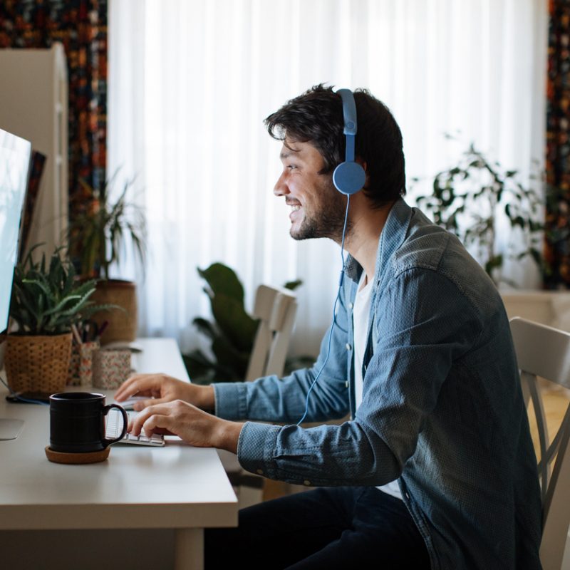
[[[155,398],[135,433],[166,430],[237,452],[251,472],[320,487],[208,532],[208,567],[539,568],[536,458],[502,301],[457,239],[403,201],[388,109],[365,90],[354,100],[366,179],[346,230],[347,197],[332,181],[341,97],[316,86],[266,119],[283,142],[274,193],[291,206],[291,237],[344,237],[350,254],[314,367],[207,387],[135,375],[116,398]],[[351,419],[308,429],[296,425],[305,410],[311,422]]]

